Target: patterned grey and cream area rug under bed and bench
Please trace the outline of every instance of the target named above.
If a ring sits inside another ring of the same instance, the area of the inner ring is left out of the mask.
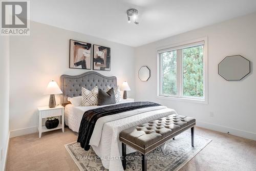
[[[184,132],[147,155],[147,170],[177,171],[210,142],[210,139],[195,135],[192,147],[190,133]],[[100,157],[97,157],[92,148],[84,151],[77,142],[66,144],[65,147],[81,171],[108,170],[103,167]],[[128,154],[126,170],[141,170],[140,157],[139,152]]]

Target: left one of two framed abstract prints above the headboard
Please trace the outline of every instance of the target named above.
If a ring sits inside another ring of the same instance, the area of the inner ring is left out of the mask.
[[[92,69],[92,44],[70,39],[69,68]]]

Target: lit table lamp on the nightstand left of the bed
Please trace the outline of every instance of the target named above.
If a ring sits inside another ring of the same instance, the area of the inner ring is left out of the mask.
[[[62,91],[58,87],[57,82],[52,80],[48,83],[45,94],[50,94],[49,108],[54,108],[56,106],[55,94],[62,94]]]

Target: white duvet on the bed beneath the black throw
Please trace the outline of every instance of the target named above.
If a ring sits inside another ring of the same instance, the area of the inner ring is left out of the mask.
[[[68,104],[65,107],[65,122],[71,130],[78,132],[84,112],[101,107]],[[90,145],[101,158],[105,168],[110,171],[123,170],[120,160],[121,143],[119,141],[119,133],[129,127],[172,114],[176,114],[175,110],[168,109],[166,106],[155,106],[101,117],[95,124]],[[126,151],[126,153],[134,152],[129,147],[127,147]]]

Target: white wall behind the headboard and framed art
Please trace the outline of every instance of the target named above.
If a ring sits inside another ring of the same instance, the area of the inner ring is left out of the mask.
[[[69,39],[110,47],[111,71],[100,73],[105,76],[117,76],[119,85],[126,80],[133,90],[127,92],[128,96],[135,96],[134,48],[31,22],[30,36],[10,38],[11,136],[37,131],[37,106],[48,105],[49,96],[44,95],[44,91],[50,80],[59,82],[62,74],[78,75],[93,71],[69,69]],[[59,96],[56,98],[58,103]]]

